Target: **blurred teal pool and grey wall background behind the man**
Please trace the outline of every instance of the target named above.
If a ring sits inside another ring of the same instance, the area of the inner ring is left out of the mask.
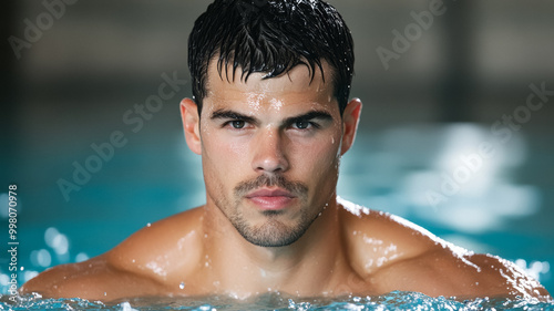
[[[17,184],[21,282],[205,200],[178,103],[191,96],[187,37],[208,1],[70,2],[2,8],[0,242]],[[339,195],[516,261],[552,293],[554,2],[330,2],[352,32],[351,96],[365,104]],[[164,74],[183,82],[141,115]],[[92,145],[114,133],[126,144],[99,165]],[[95,172],[64,196],[60,180],[86,164]]]

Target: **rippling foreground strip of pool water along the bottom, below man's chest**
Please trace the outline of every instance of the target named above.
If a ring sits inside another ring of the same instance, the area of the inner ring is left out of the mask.
[[[430,298],[417,292],[396,291],[378,297],[346,297],[341,299],[293,299],[278,293],[264,294],[246,301],[230,298],[197,299],[143,298],[105,304],[82,299],[23,298],[16,304],[3,301],[1,309],[10,310],[554,310],[554,303],[535,300],[474,299],[456,301]]]

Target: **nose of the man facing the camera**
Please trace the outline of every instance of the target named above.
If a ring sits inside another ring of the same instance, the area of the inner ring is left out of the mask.
[[[289,164],[286,156],[286,138],[279,131],[266,128],[253,142],[252,168],[257,173],[284,173]]]

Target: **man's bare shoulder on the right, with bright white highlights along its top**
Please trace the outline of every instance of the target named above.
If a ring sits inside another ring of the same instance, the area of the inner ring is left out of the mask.
[[[432,297],[552,299],[516,265],[473,253],[386,212],[347,201],[345,235],[355,270],[376,291],[417,291]]]

